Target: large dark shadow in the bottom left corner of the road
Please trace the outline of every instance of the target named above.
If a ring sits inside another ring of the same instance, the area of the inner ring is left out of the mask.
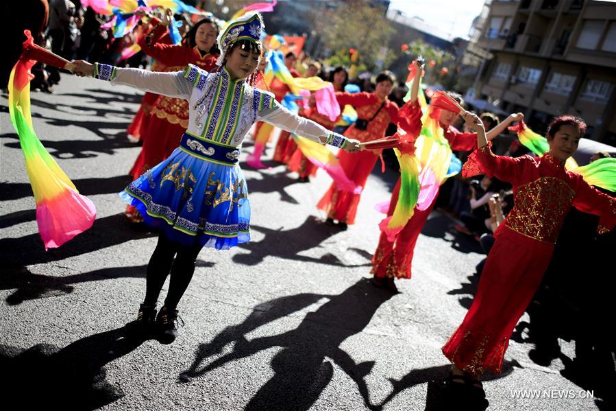
[[[106,364],[142,343],[121,327],[62,349],[37,344],[22,351],[0,345],[3,392],[23,410],[95,410],[124,397],[119,386],[106,380]]]

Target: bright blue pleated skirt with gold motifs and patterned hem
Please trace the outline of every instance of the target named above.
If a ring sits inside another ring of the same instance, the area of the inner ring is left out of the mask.
[[[250,239],[250,203],[243,172],[177,148],[119,193],[145,224],[187,246],[226,250]]]

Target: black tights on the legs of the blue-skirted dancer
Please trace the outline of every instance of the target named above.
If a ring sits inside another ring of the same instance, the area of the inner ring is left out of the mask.
[[[201,251],[201,244],[184,246],[171,241],[167,235],[160,233],[158,244],[150,257],[147,265],[147,278],[145,281],[144,305],[154,307],[158,301],[162,285],[171,271],[169,280],[169,292],[164,300],[164,305],[169,309],[175,309],[180,298],[186,292],[190,280],[195,272],[195,261]],[[175,257],[175,260],[173,259]]]

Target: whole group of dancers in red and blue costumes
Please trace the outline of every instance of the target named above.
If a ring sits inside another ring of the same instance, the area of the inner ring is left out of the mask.
[[[177,307],[201,249],[225,250],[249,241],[249,187],[238,165],[242,142],[249,134],[255,141],[247,158],[249,167],[264,167],[262,153],[277,127],[282,131],[273,158],[297,172],[299,181],[309,183],[318,169],[296,143],[295,138],[301,136],[340,149],[337,158],[346,178],[363,189],[382,156],[382,149],[371,149],[365,143],[384,139],[390,124],[404,134],[403,129],[422,130],[429,119],[421,104],[423,67],[419,59],[412,63],[410,91],[402,106],[388,98],[396,84],[391,72],[375,76],[373,91],[352,92],[345,89],[347,70],[333,69],[328,80],[339,111],[351,106],[357,117],[343,129],[339,128],[342,115],[332,119],[319,113],[315,91],[306,97],[299,113],[285,108],[293,84],[267,78],[260,14],[247,13],[224,27],[206,17],[192,25],[177,45],[169,39],[171,10],[158,18],[145,12],[139,16],[145,25],[136,44],[153,58],[151,70],[75,60],[73,73],[146,92],[127,130],[143,146],[130,170],[134,180],[121,197],[127,202],[127,218],[156,228],[160,234],[147,267],[145,298],[133,325],[136,333],[145,336],[154,330],[161,342],[171,343],[178,332]],[[300,74],[292,52],[284,56],[284,65],[291,78],[316,78],[322,71],[320,62],[310,61]],[[456,106],[463,104],[459,96],[451,95]],[[599,231],[606,233],[616,224],[616,201],[565,168],[586,131],[582,119],[556,117],[547,129],[548,152],[513,158],[493,154],[490,141],[508,126],[521,124],[520,113],[497,121],[493,116],[480,118],[434,102],[429,113],[430,121],[437,124],[441,145],[471,151],[463,176],[484,175],[488,181],[494,178],[513,189],[513,208],[493,227],[494,242],[473,304],[443,347],[453,364],[449,388],[480,403],[485,401],[480,376],[485,371],[502,371],[509,338],[539,288],[571,205],[600,216]],[[465,121],[465,132],[452,126],[458,113]],[[342,130],[343,135],[338,133]],[[386,210],[389,218],[399,202],[408,201],[406,191],[401,194],[404,185],[401,176]],[[395,279],[410,279],[415,244],[434,208],[438,187],[425,204],[417,205],[395,235],[382,231],[372,259],[375,286],[396,292]],[[340,187],[334,180],[315,205],[325,211],[325,224],[347,229],[355,222],[361,196],[362,190]],[[488,204],[489,197],[476,207]],[[374,226],[378,230],[377,222]],[[167,277],[169,291],[157,309]]]

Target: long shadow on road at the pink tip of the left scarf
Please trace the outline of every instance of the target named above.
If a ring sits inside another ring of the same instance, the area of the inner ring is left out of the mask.
[[[0,239],[0,275],[21,271],[32,264],[49,263],[75,255],[92,253],[133,239],[153,237],[156,233],[136,231],[124,215],[116,214],[95,220],[89,230],[77,235],[60,248],[45,251],[38,233],[18,238]]]

